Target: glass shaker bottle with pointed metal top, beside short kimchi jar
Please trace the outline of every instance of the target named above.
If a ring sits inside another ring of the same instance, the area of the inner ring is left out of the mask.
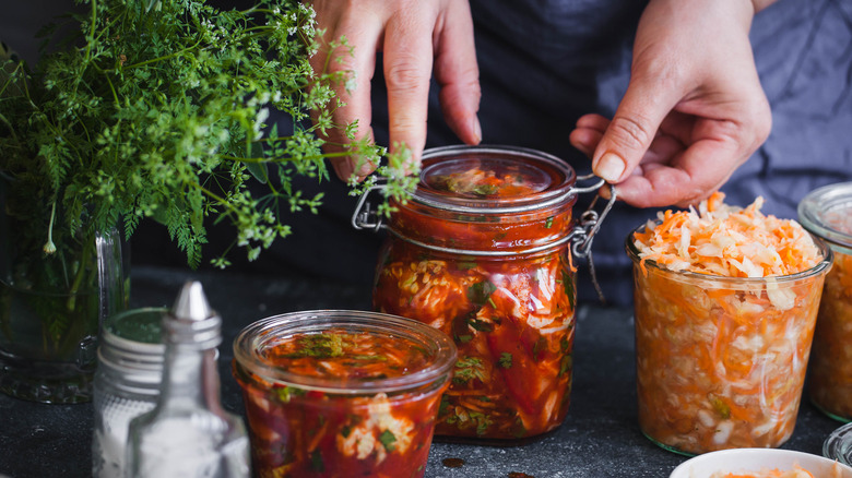
[[[163,320],[166,356],[159,399],[154,409],[130,422],[127,476],[249,476],[245,426],[220,401],[221,326],[201,284],[185,284]]]

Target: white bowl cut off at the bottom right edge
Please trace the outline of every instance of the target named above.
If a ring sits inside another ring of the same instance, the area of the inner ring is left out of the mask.
[[[705,453],[682,463],[668,478],[710,478],[714,473],[782,471],[798,465],[816,478],[852,478],[852,468],[810,453],[779,449],[733,449]],[[837,467],[839,474],[832,475]],[[720,475],[724,476],[724,475]]]

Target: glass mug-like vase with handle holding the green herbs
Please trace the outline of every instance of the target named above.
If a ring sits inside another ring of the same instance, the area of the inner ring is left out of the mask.
[[[127,304],[120,235],[85,225],[36,235],[37,219],[10,210],[0,207],[0,392],[88,402],[100,323]]]

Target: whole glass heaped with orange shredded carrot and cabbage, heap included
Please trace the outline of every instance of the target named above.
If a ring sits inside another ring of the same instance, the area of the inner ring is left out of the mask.
[[[797,223],[727,206],[630,234],[639,427],[686,455],[793,433],[831,250]]]

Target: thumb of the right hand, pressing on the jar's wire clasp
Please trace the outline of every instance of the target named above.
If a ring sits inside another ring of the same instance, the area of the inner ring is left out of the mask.
[[[677,104],[674,88],[651,79],[630,80],[615,116],[594,150],[592,170],[610,183],[630,176],[654,140],[663,119]]]

